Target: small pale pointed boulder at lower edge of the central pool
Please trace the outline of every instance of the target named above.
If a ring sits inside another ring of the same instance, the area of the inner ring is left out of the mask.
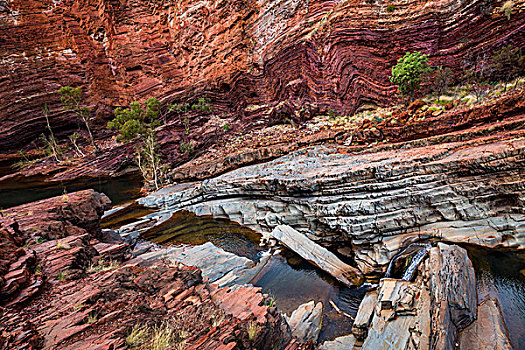
[[[314,343],[321,332],[323,318],[323,303],[313,300],[300,305],[290,317],[285,316],[290,325],[292,335],[300,342],[312,340]]]

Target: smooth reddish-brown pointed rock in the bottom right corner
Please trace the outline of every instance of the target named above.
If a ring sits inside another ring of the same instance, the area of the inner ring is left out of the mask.
[[[478,318],[458,339],[462,350],[512,349],[501,310],[495,300],[485,299],[478,306]]]

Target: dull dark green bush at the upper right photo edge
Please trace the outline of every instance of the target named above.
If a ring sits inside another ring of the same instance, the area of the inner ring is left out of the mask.
[[[504,91],[507,91],[508,82],[525,70],[525,57],[521,50],[512,44],[494,51],[490,63],[498,78],[502,78],[505,82]]]

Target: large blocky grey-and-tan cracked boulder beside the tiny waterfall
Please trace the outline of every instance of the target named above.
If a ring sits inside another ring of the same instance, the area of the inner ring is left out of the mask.
[[[363,349],[453,349],[474,321],[475,275],[465,249],[439,243],[420,270],[415,282],[381,280]],[[358,315],[369,307],[362,303]]]

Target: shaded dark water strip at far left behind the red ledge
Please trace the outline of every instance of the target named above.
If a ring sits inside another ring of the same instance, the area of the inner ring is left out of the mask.
[[[140,196],[142,178],[139,174],[128,174],[117,178],[79,178],[73,181],[46,182],[44,176],[15,177],[0,183],[0,208],[59,196],[92,188],[105,193],[113,205]]]

